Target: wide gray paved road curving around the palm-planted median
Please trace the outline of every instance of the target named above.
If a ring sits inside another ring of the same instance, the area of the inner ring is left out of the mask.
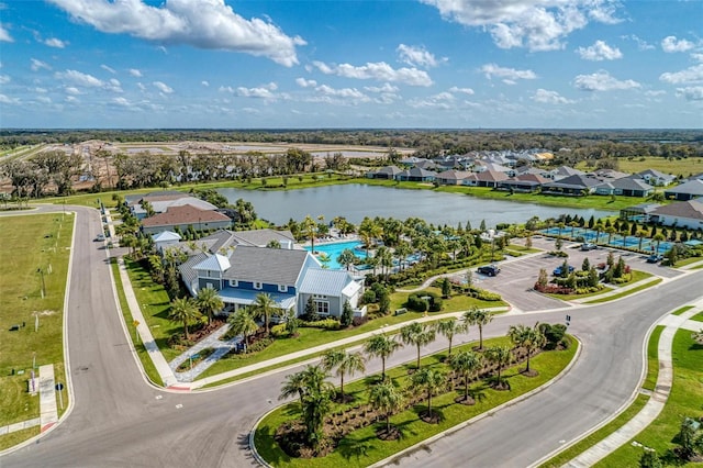
[[[57,208],[60,210],[60,208]],[[4,467],[245,467],[252,425],[277,404],[279,371],[225,389],[170,393],[142,378],[114,303],[105,252],[91,242],[94,210],[77,208],[78,225],[68,307],[69,368],[75,406],[38,442],[0,458]],[[573,370],[547,391],[475,424],[402,466],[527,466],[620,408],[641,372],[643,337],[677,303],[696,298],[701,274],[687,275],[620,301],[570,309],[571,332],[584,343]],[[498,317],[484,334],[504,334],[514,323],[561,321],[563,312]],[[466,341],[473,339],[476,331]],[[437,339],[427,352],[446,347]],[[411,360],[404,348],[390,365]],[[377,359],[369,371],[380,370]],[[496,443],[501,441],[501,443]]]

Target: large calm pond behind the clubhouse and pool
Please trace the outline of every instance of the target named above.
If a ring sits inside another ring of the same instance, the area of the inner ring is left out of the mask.
[[[313,187],[299,190],[242,190],[217,189],[231,203],[244,199],[254,204],[259,218],[278,225],[291,218],[302,221],[306,215],[323,215],[326,221],[345,216],[358,224],[364,216],[421,218],[428,223],[456,226],[467,222],[478,227],[486,221],[488,227],[498,223],[524,223],[532,216],[557,218],[560,214],[578,214],[585,220],[612,215],[612,211],[544,207],[536,203],[516,203],[503,200],[481,199],[461,193],[445,193],[431,190],[406,190],[389,187],[349,183]]]

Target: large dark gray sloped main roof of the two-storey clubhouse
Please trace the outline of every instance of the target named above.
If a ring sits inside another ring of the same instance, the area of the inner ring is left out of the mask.
[[[309,256],[308,250],[239,245],[230,258],[231,267],[224,272],[224,278],[295,285]]]

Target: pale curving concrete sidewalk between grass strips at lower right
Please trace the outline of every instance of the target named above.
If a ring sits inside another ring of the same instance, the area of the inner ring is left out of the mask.
[[[689,325],[690,322],[698,324],[696,331],[703,328],[703,323],[689,320],[691,316],[700,313],[701,309],[703,309],[703,301],[700,301],[696,303],[694,309],[691,309],[681,315],[669,314],[658,322],[659,325],[665,325],[666,328],[661,332],[659,337],[659,375],[657,377],[657,386],[655,387],[655,391],[651,393],[651,398],[647,401],[639,413],[637,413],[625,425],[598,444],[593,445],[588,450],[583,452],[578,457],[571,459],[565,465],[565,467],[585,468],[595,465],[636,437],[637,434],[649,426],[649,424],[659,416],[663,406],[667,404],[671,386],[673,385],[673,366],[671,361],[673,336],[681,327],[691,330],[684,326]]]

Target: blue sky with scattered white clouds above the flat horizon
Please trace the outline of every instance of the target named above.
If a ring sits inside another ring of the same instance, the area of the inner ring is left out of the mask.
[[[703,127],[701,0],[0,0],[0,127]]]

